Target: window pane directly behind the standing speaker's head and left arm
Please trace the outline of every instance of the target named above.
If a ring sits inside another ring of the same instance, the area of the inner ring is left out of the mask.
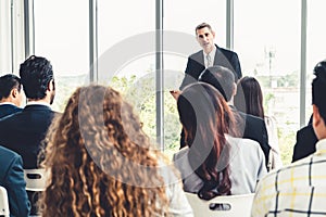
[[[165,146],[172,155],[179,149],[181,125],[176,110],[175,99],[170,90],[178,89],[186,69],[188,56],[199,50],[195,28],[209,23],[215,31],[215,43],[226,44],[226,1],[167,0],[164,1],[164,119]]]

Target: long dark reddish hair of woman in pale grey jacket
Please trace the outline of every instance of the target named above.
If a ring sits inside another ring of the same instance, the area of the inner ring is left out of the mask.
[[[197,82],[183,90],[177,108],[190,148],[189,163],[204,182],[198,195],[210,200],[218,194],[229,194],[225,133],[233,135],[235,129],[229,106],[214,87]]]

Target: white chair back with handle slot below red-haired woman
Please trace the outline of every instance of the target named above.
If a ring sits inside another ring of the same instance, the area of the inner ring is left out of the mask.
[[[198,197],[197,194],[186,193],[195,217],[250,217],[254,193],[242,195],[216,196],[210,201]]]

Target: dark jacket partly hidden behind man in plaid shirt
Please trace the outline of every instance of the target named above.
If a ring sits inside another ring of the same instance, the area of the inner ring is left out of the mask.
[[[292,162],[304,158],[316,151],[318,139],[312,125],[308,125],[297,131],[297,143],[293,148]]]

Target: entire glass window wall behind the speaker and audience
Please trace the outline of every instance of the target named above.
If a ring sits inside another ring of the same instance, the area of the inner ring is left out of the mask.
[[[11,2],[14,2],[11,5]],[[24,1],[0,2],[0,69],[16,73],[24,54]],[[155,140],[155,1],[34,0],[35,44],[30,53],[51,61],[58,84],[53,108],[62,111],[76,87],[89,82],[90,44],[97,69],[95,81],[111,85],[136,105],[145,130]],[[180,125],[175,100],[187,58],[198,51],[195,27],[206,22],[216,33],[215,42],[226,46],[226,0],[164,1],[164,133],[167,151],[178,149]],[[296,131],[300,128],[301,3],[304,1],[234,0],[234,50],[242,74],[254,76],[263,87],[265,112],[274,116],[285,164],[289,163]],[[306,122],[311,115],[311,80],[314,65],[326,56],[323,50],[323,0],[308,1]],[[30,9],[29,9],[30,10]],[[93,38],[90,41],[90,17]],[[28,51],[27,51],[28,53]],[[27,56],[26,56],[27,58]]]

